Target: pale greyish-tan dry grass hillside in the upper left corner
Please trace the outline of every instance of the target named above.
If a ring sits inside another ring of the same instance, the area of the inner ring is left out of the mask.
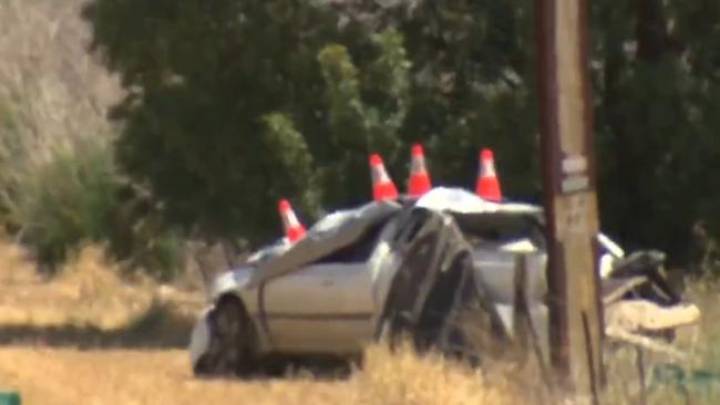
[[[83,3],[0,1],[0,103],[38,164],[83,137],[110,133],[105,111],[122,94],[117,79],[86,51]]]

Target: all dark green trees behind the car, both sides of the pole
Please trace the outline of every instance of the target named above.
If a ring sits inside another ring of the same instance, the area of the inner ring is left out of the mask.
[[[720,3],[590,3],[603,228],[700,263],[720,233]],[[506,195],[538,200],[533,4],[92,0],[92,49],[125,90],[122,181],[100,190],[151,233],[255,245],[281,196],[308,222],[370,198],[371,152],[402,185],[420,141],[436,183],[472,187],[491,146]],[[121,256],[147,245],[82,228]]]

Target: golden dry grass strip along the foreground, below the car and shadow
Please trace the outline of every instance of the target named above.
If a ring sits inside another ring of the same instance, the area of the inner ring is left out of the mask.
[[[0,349],[0,378],[29,404],[515,404],[504,390],[439,360],[372,350],[348,380],[202,381],[177,350]]]

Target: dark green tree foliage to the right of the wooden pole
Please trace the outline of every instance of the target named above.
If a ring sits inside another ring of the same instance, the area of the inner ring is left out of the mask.
[[[720,228],[711,2],[596,4],[596,133],[603,219],[631,247],[687,259],[696,220]],[[628,18],[630,15],[630,18]],[[713,201],[713,202],[711,202]]]

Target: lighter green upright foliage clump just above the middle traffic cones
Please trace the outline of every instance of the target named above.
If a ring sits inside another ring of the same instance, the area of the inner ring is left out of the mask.
[[[380,150],[394,160],[402,146],[399,132],[408,110],[410,62],[397,31],[373,34],[371,41],[378,55],[363,71],[343,45],[329,44],[318,55],[332,148],[323,160],[323,189],[331,206],[367,200],[368,154]]]

